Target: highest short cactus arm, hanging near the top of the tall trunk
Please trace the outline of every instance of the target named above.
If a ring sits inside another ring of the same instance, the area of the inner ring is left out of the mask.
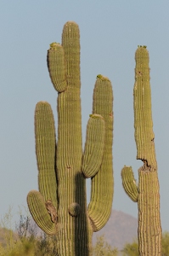
[[[62,92],[67,88],[65,79],[65,52],[61,44],[50,44],[48,49],[48,72],[54,89]]]

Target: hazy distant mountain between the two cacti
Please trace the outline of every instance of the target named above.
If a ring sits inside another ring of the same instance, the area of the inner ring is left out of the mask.
[[[132,242],[138,236],[138,219],[131,215],[113,210],[110,219],[102,230],[93,233],[93,244],[96,242],[97,236],[104,235],[112,247],[122,247],[127,242]]]

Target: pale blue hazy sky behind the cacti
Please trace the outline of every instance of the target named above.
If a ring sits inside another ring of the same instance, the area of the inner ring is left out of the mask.
[[[83,143],[101,73],[114,90],[113,208],[134,217],[138,206],[122,188],[121,168],[132,166],[138,180],[142,162],[136,160],[133,129],[134,54],[138,44],[148,47],[161,222],[169,230],[169,1],[5,0],[0,17],[0,215],[9,205],[14,210],[25,206],[27,193],[37,189],[34,109],[37,102],[48,101],[57,117],[46,55],[50,43],[61,41],[65,22],[74,20],[81,31]]]

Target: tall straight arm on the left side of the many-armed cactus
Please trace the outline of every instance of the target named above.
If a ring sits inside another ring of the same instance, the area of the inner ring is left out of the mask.
[[[45,201],[51,199],[54,207],[57,207],[54,115],[48,102],[37,103],[35,110],[35,135],[39,191]]]

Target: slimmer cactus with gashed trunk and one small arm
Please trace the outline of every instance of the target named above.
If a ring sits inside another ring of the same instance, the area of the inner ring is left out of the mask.
[[[132,167],[121,171],[122,184],[132,201],[138,202],[138,249],[140,255],[161,255],[160,193],[155,158],[155,135],[151,114],[149,52],[138,46],[135,54],[134,128],[137,159],[144,162],[138,169],[138,186]]]

